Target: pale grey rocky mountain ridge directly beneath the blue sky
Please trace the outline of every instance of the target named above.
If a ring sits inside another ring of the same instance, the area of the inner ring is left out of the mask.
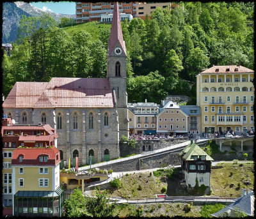
[[[51,11],[44,11],[40,8],[36,8],[35,6],[32,6],[29,3],[24,3],[22,1],[17,1],[15,2],[15,4],[17,5],[17,7],[19,7],[20,9],[26,11],[27,13],[29,13],[29,15],[31,16],[40,16],[43,13],[49,13],[49,15],[51,15],[51,17],[56,20],[57,22],[60,22],[61,17],[68,17],[68,18],[74,18],[76,17],[76,15],[64,15],[62,13],[54,13]]]

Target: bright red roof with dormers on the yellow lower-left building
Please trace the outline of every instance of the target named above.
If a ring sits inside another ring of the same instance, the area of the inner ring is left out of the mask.
[[[24,156],[22,162],[19,162],[19,155]],[[39,155],[49,155],[48,162],[39,162]],[[58,161],[56,155],[59,155]],[[60,151],[56,147],[17,148],[12,155],[12,165],[57,165],[58,163],[60,163]]]

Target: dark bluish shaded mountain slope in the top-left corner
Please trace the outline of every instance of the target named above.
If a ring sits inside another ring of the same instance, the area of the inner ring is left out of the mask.
[[[22,15],[31,16],[26,11],[18,8],[14,3],[3,3],[3,43],[10,43],[16,40]]]

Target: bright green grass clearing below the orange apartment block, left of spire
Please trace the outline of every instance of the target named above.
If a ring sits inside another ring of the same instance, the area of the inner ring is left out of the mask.
[[[110,29],[111,24],[101,24],[97,22],[87,22],[83,24],[78,24],[72,27],[63,27],[63,29],[69,34],[73,35],[77,31],[85,30],[91,34],[93,40],[98,40],[100,36],[100,31],[102,29]]]

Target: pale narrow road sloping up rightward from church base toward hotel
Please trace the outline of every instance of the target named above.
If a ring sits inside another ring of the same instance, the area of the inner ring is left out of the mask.
[[[205,139],[200,139],[200,140],[197,140],[197,143],[198,142],[204,142],[204,141],[205,141]],[[111,165],[113,163],[124,162],[124,161],[132,160],[132,159],[135,159],[135,158],[143,158],[144,156],[148,156],[148,155],[156,155],[157,153],[167,152],[167,151],[170,151],[170,150],[173,150],[173,149],[179,149],[179,148],[185,147],[189,143],[190,143],[190,140],[187,140],[186,142],[182,142],[180,144],[175,144],[175,145],[172,145],[172,146],[169,146],[169,147],[164,147],[162,149],[157,149],[156,151],[148,151],[148,152],[142,153],[140,155],[134,155],[134,156],[129,156],[127,158],[120,158],[120,159],[117,159],[117,160],[111,160],[109,162],[96,163],[96,164],[92,165],[92,168],[102,167],[102,166],[105,166],[105,165]],[[90,169],[90,165],[88,165],[86,167],[79,167],[79,171],[80,170],[88,170],[88,169]]]

